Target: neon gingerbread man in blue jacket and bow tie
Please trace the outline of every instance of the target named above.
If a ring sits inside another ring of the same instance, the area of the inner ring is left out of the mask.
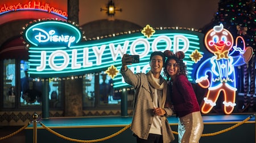
[[[243,47],[237,47],[238,41],[243,42]],[[241,36],[236,38],[236,45],[232,34],[224,28],[222,24],[216,25],[205,34],[205,46],[214,56],[200,64],[196,83],[203,88],[208,88],[208,92],[203,101],[201,111],[207,114],[216,105],[220,93],[224,94],[225,114],[231,114],[236,106],[236,73],[234,66],[241,66],[249,61],[252,55],[252,48],[245,48],[245,41]],[[249,49],[249,50],[248,50]],[[247,53],[249,51],[249,58]]]

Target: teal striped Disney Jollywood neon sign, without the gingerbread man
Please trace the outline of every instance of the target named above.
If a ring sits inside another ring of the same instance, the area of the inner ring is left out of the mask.
[[[40,30],[39,30],[40,29]],[[50,31],[54,32],[50,32]],[[194,73],[191,55],[204,54],[203,34],[175,29],[155,30],[147,38],[142,33],[131,33],[95,41],[81,40],[81,35],[72,25],[62,21],[40,21],[25,29],[23,37],[30,45],[28,72],[31,77],[67,77],[84,75],[111,69],[120,69],[123,54],[140,55],[140,63],[130,68],[134,72],[150,70],[149,59],[152,51],[184,51],[189,70],[189,80]],[[54,33],[54,34],[53,34]],[[52,37],[51,37],[52,36]],[[56,36],[56,37],[53,37]],[[67,36],[64,42],[63,37]],[[40,37],[40,38],[39,38]],[[72,40],[69,38],[72,37]],[[56,38],[56,40],[53,40]],[[75,41],[74,41],[75,40]],[[114,77],[114,76],[113,76]],[[121,73],[113,78],[114,88],[129,86],[122,81]]]

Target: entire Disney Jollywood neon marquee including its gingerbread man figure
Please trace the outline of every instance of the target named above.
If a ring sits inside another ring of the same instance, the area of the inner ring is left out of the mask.
[[[222,24],[210,29],[205,36],[195,31],[153,29],[147,25],[141,32],[81,41],[81,32],[72,24],[40,21],[29,25],[23,36],[30,45],[28,72],[31,77],[67,77],[106,71],[112,74],[114,88],[129,86],[118,72],[124,54],[139,55],[140,63],[129,67],[134,73],[146,73],[150,70],[153,51],[183,51],[189,81],[208,88],[201,110],[205,114],[216,105],[221,92],[225,97],[224,112],[231,114],[236,106],[234,66],[248,62],[253,52],[241,36],[233,38]]]

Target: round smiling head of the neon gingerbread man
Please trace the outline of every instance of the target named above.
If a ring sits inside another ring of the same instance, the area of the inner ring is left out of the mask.
[[[223,53],[232,49],[234,39],[232,34],[220,24],[205,34],[204,42],[211,53]]]

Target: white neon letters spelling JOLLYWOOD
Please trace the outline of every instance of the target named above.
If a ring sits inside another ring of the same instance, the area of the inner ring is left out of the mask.
[[[152,44],[150,45],[150,42],[147,41],[147,39],[145,38],[138,38],[137,40],[133,41],[131,43],[130,49],[129,48],[129,43],[130,41],[125,41],[123,44],[123,47],[121,45],[117,45],[117,47],[115,47],[115,45],[113,43],[110,43],[108,45],[110,53],[112,55],[112,60],[113,62],[115,62],[119,56],[123,56],[123,54],[126,54],[128,50],[130,50],[130,54],[139,54],[140,58],[144,58],[146,57],[149,53],[150,53],[150,47],[152,51],[159,51],[158,50],[158,42],[160,41],[164,41],[166,42],[166,48],[164,50],[171,50],[173,47],[173,51],[183,51],[184,53],[188,50],[189,48],[189,40],[187,37],[183,36],[183,35],[176,35],[174,36],[174,40],[173,40],[173,45],[172,45],[172,40],[170,39],[170,37],[168,36],[158,36],[154,39],[154,41],[152,41]],[[181,49],[179,49],[179,42],[183,41],[184,45]],[[144,45],[144,51],[137,53],[136,51],[136,46],[137,45]],[[102,55],[106,49],[106,45],[101,45],[100,49],[98,48],[98,46],[93,46],[93,47],[85,47],[82,49],[82,56],[83,56],[83,61],[82,63],[77,63],[77,49],[72,49],[72,54],[69,55],[67,53],[67,51],[65,50],[56,50],[53,51],[50,55],[49,58],[47,59],[47,51],[41,51],[41,63],[40,66],[36,67],[36,71],[44,71],[46,68],[46,62],[48,62],[49,67],[52,68],[52,70],[55,71],[62,71],[65,68],[68,67],[69,62],[71,62],[71,69],[75,70],[75,69],[80,69],[80,68],[85,68],[85,67],[92,67],[95,66],[93,65],[93,62],[89,61],[89,49],[92,49],[94,52],[94,55],[96,57],[96,65],[100,66],[101,62],[102,62]],[[162,50],[162,51],[164,51]],[[56,57],[62,57],[63,63],[60,64],[56,64],[54,62],[54,59]],[[71,61],[70,61],[71,60]]]

